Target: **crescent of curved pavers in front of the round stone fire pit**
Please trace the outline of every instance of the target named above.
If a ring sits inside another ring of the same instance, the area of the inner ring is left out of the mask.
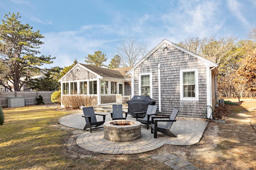
[[[146,128],[141,130],[141,138],[130,142],[112,142],[104,139],[102,131],[83,133],[78,137],[78,146],[104,154],[136,154],[162,147],[167,138],[154,138]]]

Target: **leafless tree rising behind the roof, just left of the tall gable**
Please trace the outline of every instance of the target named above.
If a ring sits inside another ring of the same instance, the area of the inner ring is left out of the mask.
[[[134,66],[148,51],[148,45],[146,43],[139,43],[134,38],[122,39],[122,45],[117,48],[117,53],[121,57],[120,64],[122,66]]]

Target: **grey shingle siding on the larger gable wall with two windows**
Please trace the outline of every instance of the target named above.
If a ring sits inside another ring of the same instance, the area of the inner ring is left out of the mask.
[[[160,43],[161,44],[161,43]],[[158,64],[160,64],[161,78],[161,113],[170,115],[173,109],[179,109],[178,116],[205,118],[204,109],[207,106],[207,78],[206,62],[202,57],[194,57],[193,54],[186,53],[173,45],[165,44],[167,47],[155,49],[151,55],[137,64],[134,68],[134,95],[139,94],[140,74],[150,73],[152,80],[152,99],[159,106],[158,96]],[[194,54],[195,55],[195,54]],[[204,59],[205,60],[205,59]],[[210,62],[211,64],[212,62]],[[217,65],[217,64],[216,64]],[[215,67],[215,66],[214,66]],[[214,68],[212,67],[212,68]],[[209,68],[209,67],[208,67]],[[197,69],[198,72],[198,100],[181,100],[180,97],[180,70]],[[210,69],[210,68],[209,68]],[[132,72],[131,70],[129,72]],[[217,71],[218,72],[218,71]],[[215,108],[216,102],[216,79],[212,71],[212,106]],[[158,107],[159,108],[159,107]]]

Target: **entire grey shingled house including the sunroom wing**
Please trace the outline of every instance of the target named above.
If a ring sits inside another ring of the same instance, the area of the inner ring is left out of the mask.
[[[76,64],[59,82],[62,96],[85,95],[97,104],[116,101],[115,95],[148,95],[162,115],[174,108],[178,116],[204,118],[204,109],[215,109],[218,64],[166,39],[133,67],[116,69]],[[210,109],[207,117],[210,117]]]

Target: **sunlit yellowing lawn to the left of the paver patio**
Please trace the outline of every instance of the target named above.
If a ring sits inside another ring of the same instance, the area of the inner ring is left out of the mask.
[[[44,105],[4,108],[3,111],[1,170],[168,169],[147,154],[106,155],[78,147],[76,138],[84,131],[58,124],[60,117],[76,113],[74,109]],[[152,167],[144,168],[149,164]]]

